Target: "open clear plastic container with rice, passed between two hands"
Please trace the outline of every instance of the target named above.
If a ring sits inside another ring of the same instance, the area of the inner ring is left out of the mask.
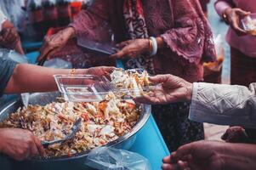
[[[54,78],[65,100],[72,102],[99,102],[111,94],[120,99],[133,99],[145,93],[150,95],[156,88],[141,69],[117,69],[110,77],[55,75]]]

